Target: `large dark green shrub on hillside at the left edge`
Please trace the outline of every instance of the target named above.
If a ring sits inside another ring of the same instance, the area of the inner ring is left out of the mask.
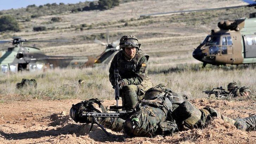
[[[20,31],[17,20],[10,15],[2,16],[0,18],[0,32],[2,31]]]

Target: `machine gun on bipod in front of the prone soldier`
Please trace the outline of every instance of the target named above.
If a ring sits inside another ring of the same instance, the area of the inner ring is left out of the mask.
[[[91,122],[91,126],[90,129],[87,133],[89,133],[92,129],[92,126],[94,124],[97,124],[98,126],[100,126],[100,128],[108,135],[108,136],[112,136],[109,132],[106,131],[106,129],[98,122],[98,118],[120,118],[123,116],[127,116],[129,112],[127,111],[117,111],[117,113],[98,113],[98,112],[87,112],[85,114],[81,113],[81,117],[84,118],[91,118],[92,122]]]

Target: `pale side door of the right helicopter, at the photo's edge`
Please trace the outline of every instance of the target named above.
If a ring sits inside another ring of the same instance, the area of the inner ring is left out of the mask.
[[[245,35],[244,40],[244,58],[256,58],[256,35]]]

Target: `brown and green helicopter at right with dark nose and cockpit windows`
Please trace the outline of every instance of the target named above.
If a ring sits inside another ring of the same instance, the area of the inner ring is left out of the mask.
[[[176,11],[166,13],[145,14],[163,15],[172,13],[198,12],[238,7],[255,7],[256,1],[243,0],[249,5],[221,7],[211,9],[197,9],[189,11]],[[218,30],[211,30],[210,35],[193,51],[195,59],[212,65],[239,65],[256,63],[256,13],[251,13],[249,18],[225,20],[218,23]]]

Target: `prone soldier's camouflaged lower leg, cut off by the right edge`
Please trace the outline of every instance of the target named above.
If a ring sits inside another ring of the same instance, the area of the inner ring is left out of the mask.
[[[247,118],[237,118],[235,119],[235,126],[237,129],[242,131],[254,131],[256,130],[256,116]]]

